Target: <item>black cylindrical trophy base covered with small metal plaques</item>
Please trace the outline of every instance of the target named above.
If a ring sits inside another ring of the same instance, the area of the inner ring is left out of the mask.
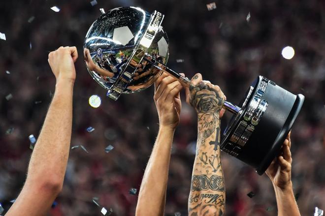
[[[224,132],[221,150],[254,167],[262,175],[292,128],[304,101],[259,76]]]

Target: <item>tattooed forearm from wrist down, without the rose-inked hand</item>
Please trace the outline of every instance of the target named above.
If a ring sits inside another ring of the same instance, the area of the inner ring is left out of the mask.
[[[189,216],[223,215],[225,185],[220,154],[220,122],[216,113],[198,114],[198,138],[189,196]]]

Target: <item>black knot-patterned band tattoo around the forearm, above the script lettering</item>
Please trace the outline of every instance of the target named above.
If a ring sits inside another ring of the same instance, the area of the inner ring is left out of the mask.
[[[206,175],[193,175],[192,191],[215,190],[224,191],[224,178],[222,176],[212,175],[210,178]]]

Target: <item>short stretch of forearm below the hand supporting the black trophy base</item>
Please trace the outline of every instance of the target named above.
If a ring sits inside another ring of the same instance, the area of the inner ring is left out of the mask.
[[[294,199],[292,182],[286,188],[280,188],[274,184],[273,187],[278,206],[278,216],[300,216],[297,203]]]

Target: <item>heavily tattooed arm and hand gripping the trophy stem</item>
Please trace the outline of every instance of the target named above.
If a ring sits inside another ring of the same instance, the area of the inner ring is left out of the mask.
[[[197,144],[189,196],[189,216],[222,216],[225,184],[220,155],[219,113],[225,96],[218,86],[196,74],[186,89],[187,102],[197,112]]]

